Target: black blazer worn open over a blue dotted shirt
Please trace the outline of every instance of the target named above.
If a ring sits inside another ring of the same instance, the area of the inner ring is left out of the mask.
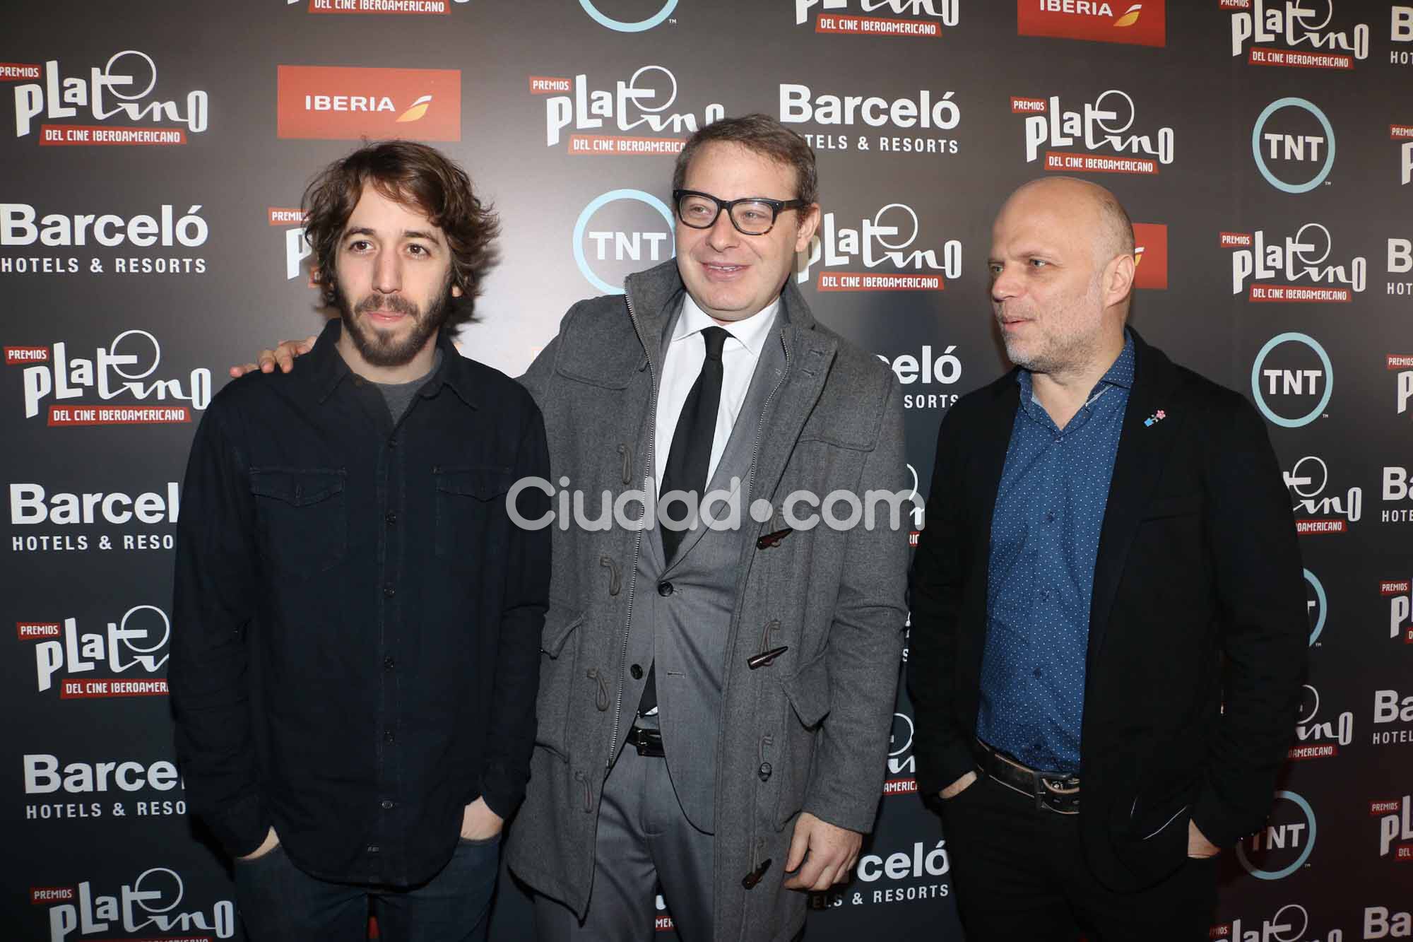
[[[1177,870],[1188,819],[1219,847],[1262,826],[1308,634],[1290,501],[1259,414],[1136,331],[1133,344],[1080,755],[1085,854],[1115,890]],[[1017,399],[1012,371],[958,400],[937,434],[909,652],[924,795],[975,768],[992,511]]]

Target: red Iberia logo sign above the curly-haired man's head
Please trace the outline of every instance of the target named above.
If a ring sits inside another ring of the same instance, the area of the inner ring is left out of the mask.
[[[461,69],[281,65],[278,136],[461,140]]]

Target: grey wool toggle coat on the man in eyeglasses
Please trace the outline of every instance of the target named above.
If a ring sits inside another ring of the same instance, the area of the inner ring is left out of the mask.
[[[684,287],[675,262],[630,276],[626,296],[569,308],[560,334],[521,382],[544,413],[551,470],[571,489],[615,496],[651,470],[661,337]],[[907,489],[901,396],[879,361],[810,314],[787,281],[774,335],[784,371],[759,417],[750,498],[773,519],[743,515],[736,601],[715,775],[715,938],[790,939],[805,897],[781,887],[801,810],[869,832],[882,793],[906,624],[907,508],[899,529],[797,529],[781,502],[810,489]],[[756,421],[757,417],[740,417]],[[801,515],[808,508],[797,508]],[[591,511],[591,515],[593,511]],[[839,515],[844,513],[842,505]],[[510,829],[510,868],[581,917],[593,888],[602,786],[632,710],[620,710],[625,634],[636,594],[642,530],[554,525],[550,610],[540,655],[531,775]],[[757,669],[752,655],[786,646]],[[632,706],[632,703],[630,703]],[[627,717],[623,717],[627,713]],[[771,771],[763,774],[763,767]],[[767,866],[763,866],[766,861]],[[757,873],[749,888],[743,878]]]

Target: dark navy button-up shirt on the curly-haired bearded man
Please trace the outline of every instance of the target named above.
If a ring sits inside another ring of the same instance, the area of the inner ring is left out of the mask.
[[[478,796],[509,816],[534,743],[550,530],[544,423],[442,337],[394,423],[336,349],[211,402],[177,535],[168,682],[192,810],[232,854],[273,826],[321,880],[418,884]],[[544,491],[517,508],[538,519]],[[246,864],[236,864],[237,867]]]

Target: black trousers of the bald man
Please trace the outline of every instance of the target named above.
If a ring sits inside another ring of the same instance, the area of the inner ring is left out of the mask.
[[[1078,815],[985,775],[942,802],[942,833],[966,942],[1198,942],[1215,918],[1217,857],[1115,892],[1089,873]]]

